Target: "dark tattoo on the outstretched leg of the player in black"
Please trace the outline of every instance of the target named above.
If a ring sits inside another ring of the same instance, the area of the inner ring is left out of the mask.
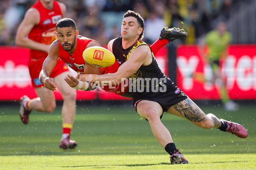
[[[189,99],[177,103],[174,108],[191,122],[203,122],[207,120],[206,115],[202,113],[201,109]]]

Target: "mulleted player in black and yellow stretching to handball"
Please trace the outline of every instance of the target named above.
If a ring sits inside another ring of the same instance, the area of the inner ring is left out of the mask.
[[[69,76],[70,81],[87,81],[97,83],[121,84],[129,79],[128,91],[133,98],[137,113],[146,119],[157,141],[171,155],[172,164],[188,163],[177,150],[171,133],[161,122],[163,112],[189,120],[194,125],[204,128],[218,128],[235,134],[240,138],[247,137],[246,129],[233,122],[218,119],[212,113],[205,114],[186,94],[167,78],[157,65],[151,49],[143,39],[144,20],[140,14],[127,11],[121,27],[121,37],[111,40],[108,50],[113,52],[121,66],[112,74],[84,74],[80,80]]]

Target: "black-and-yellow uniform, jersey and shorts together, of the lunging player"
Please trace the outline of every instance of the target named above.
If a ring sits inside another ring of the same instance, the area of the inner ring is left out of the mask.
[[[131,52],[140,45],[147,44],[142,40],[137,40],[131,47],[123,49],[122,37],[118,37],[113,42],[112,51],[117,62],[122,65],[129,59]],[[150,49],[149,46],[148,48]],[[163,111],[167,111],[172,105],[187,98],[186,94],[180,91],[180,89],[174,85],[172,80],[163,74],[157,64],[154,54],[152,54],[151,64],[141,65],[136,73],[131,75],[129,79],[130,84],[128,92],[131,92],[133,105],[136,111],[138,102],[142,100],[157,102],[161,105]]]

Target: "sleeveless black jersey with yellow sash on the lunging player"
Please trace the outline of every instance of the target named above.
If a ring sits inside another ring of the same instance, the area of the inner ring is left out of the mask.
[[[127,49],[122,48],[122,37],[116,38],[113,42],[112,51],[114,56],[116,57],[116,60],[119,64],[123,64],[129,59],[129,56],[131,52],[139,47],[140,45],[147,45],[142,40],[137,40],[134,45],[131,45],[131,47]],[[147,45],[148,46],[148,45]],[[150,47],[148,46],[149,50],[151,51]],[[156,88],[153,86],[161,86],[159,85],[160,79],[163,81],[163,79],[168,79],[163,72],[160,70],[157,60],[154,57],[154,54],[152,54],[152,62],[150,65],[141,65],[138,71],[131,75],[129,78],[132,82],[132,91],[131,88],[129,88],[130,92],[132,92],[133,98],[136,96],[155,96],[156,94],[160,93],[159,91],[156,92]],[[153,79],[154,78],[154,79]],[[153,83],[152,83],[153,79]],[[171,81],[170,79],[168,81]],[[172,83],[172,82],[169,82]],[[161,82],[160,82],[161,84]],[[138,87],[140,86],[140,87]],[[159,88],[159,87],[157,87]],[[153,89],[153,90],[152,90]],[[154,93],[154,94],[151,94]]]

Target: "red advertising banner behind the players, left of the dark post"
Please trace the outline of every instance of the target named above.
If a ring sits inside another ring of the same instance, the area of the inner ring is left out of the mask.
[[[19,100],[21,96],[27,95],[30,98],[37,97],[31,85],[31,78],[28,70],[29,50],[15,46],[0,47],[0,101]],[[162,48],[157,53],[157,61],[162,71],[167,74],[167,49]],[[76,72],[72,71],[76,76]],[[100,92],[100,93],[99,93]],[[54,92],[57,100],[63,99],[61,93]],[[105,91],[77,91],[77,100],[129,100],[114,93]]]

